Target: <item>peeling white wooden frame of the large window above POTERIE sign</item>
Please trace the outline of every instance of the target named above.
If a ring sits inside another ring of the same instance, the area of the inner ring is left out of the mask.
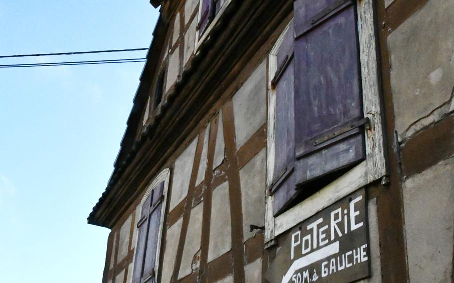
[[[309,198],[291,207],[277,217],[273,216],[273,196],[267,195],[265,208],[265,248],[276,244],[275,237],[293,226],[308,219],[346,195],[379,180],[387,175],[384,150],[384,128],[380,102],[379,72],[376,53],[376,32],[374,25],[373,0],[358,0],[358,35],[361,62],[361,84],[364,116],[370,120],[366,129],[366,160],[356,165],[344,175],[328,184]],[[277,71],[277,51],[288,26],[277,39],[269,54],[269,78]],[[266,183],[271,185],[274,169],[274,138],[276,90],[268,81],[268,143],[266,163]]]

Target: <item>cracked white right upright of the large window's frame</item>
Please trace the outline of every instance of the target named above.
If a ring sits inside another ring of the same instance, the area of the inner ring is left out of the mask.
[[[367,179],[369,182],[381,178],[387,171],[372,4],[372,0],[358,1],[357,9],[363,109],[365,117],[370,120],[370,127],[366,130]]]

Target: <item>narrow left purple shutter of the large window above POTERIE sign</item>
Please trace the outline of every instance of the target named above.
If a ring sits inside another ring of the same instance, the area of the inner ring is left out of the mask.
[[[285,209],[298,193],[295,190],[293,173],[295,163],[293,34],[291,22],[277,51],[277,71],[272,80],[276,90],[274,173],[271,185],[275,216]]]

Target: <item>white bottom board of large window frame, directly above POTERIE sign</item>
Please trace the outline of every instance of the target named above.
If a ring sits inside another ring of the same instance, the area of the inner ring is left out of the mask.
[[[356,165],[336,181],[311,195],[274,219],[274,237],[311,217],[349,193],[365,186],[367,182],[366,161]]]

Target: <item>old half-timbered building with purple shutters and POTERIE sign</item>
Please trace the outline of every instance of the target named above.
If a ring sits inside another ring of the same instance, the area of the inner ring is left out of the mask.
[[[454,1],[151,4],[103,283],[453,281]]]

